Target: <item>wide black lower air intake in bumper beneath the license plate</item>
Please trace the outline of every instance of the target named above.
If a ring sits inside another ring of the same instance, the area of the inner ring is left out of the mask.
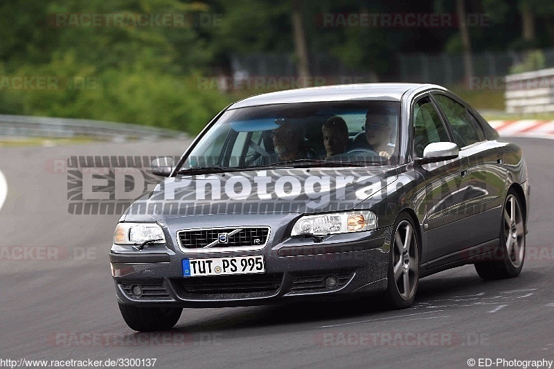
[[[282,280],[283,274],[190,277],[181,281],[181,287],[190,294],[242,294],[276,291]]]

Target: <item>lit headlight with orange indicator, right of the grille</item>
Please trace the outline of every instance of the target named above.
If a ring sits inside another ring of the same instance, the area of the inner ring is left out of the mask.
[[[369,231],[377,228],[377,215],[369,210],[321,215],[305,215],[292,227],[291,235],[329,235]]]

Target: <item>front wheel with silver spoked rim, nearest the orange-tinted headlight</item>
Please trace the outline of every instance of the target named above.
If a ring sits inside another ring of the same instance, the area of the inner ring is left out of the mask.
[[[406,309],[413,304],[419,280],[418,237],[408,215],[402,215],[393,226],[388,261],[388,287],[384,297],[388,307]]]

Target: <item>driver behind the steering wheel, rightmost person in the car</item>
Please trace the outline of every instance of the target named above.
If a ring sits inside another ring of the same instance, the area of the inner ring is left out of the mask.
[[[373,148],[385,159],[391,159],[395,144],[391,143],[391,133],[397,124],[395,114],[391,114],[386,107],[370,109],[366,114],[366,139]]]

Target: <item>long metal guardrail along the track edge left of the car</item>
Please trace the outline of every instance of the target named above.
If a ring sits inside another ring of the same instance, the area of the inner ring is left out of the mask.
[[[172,129],[102,120],[0,115],[0,136],[69,138],[87,136],[111,141],[187,138]]]

